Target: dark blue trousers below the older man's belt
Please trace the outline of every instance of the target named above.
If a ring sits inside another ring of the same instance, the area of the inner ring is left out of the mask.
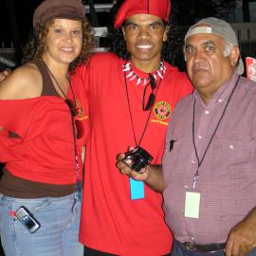
[[[225,256],[225,253],[223,250],[219,250],[212,253],[188,250],[181,243],[174,240],[171,256],[207,256],[207,255]],[[253,249],[247,256],[256,256],[256,248]]]

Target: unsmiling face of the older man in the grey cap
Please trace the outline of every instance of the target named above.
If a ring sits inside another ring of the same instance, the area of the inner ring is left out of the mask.
[[[211,97],[231,77],[239,49],[232,46],[226,57],[226,46],[225,39],[214,34],[194,34],[186,40],[187,71],[199,93]]]

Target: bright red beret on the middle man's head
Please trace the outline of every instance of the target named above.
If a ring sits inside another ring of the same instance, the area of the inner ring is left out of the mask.
[[[130,16],[135,14],[155,15],[169,23],[171,14],[170,0],[126,0],[120,6],[115,18],[114,27],[119,28]]]

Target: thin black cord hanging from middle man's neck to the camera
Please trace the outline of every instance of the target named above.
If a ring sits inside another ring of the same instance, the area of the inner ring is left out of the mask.
[[[126,63],[126,64],[127,64],[127,63]],[[123,72],[123,76],[124,76],[124,83],[125,83],[126,99],[127,99],[127,103],[128,103],[129,115],[130,115],[130,119],[131,119],[131,124],[132,124],[134,139],[135,139],[136,146],[140,146],[140,143],[141,143],[141,141],[142,141],[142,139],[143,139],[143,137],[144,137],[144,135],[145,135],[145,133],[146,133],[146,130],[147,130],[147,128],[148,128],[149,119],[150,119],[150,116],[151,116],[151,113],[152,113],[154,104],[153,104],[152,107],[150,108],[149,115],[148,115],[148,118],[147,118],[147,120],[146,120],[146,124],[145,124],[145,126],[144,126],[142,135],[141,135],[141,137],[139,138],[138,143],[137,143],[137,137],[136,137],[136,132],[135,132],[134,119],[133,119],[133,115],[132,115],[130,97],[129,97],[128,86],[127,86],[127,80],[126,80],[126,71]],[[162,76],[163,76],[163,71],[162,71]],[[162,82],[162,79],[160,78],[160,81],[158,82],[158,85],[157,85],[156,90],[155,90],[155,99],[156,99],[156,95],[157,95],[157,92],[158,92],[158,89],[159,89],[159,86],[160,86],[160,83],[161,83],[161,82]],[[149,84],[149,83],[148,83],[148,84]],[[148,84],[146,84],[145,86],[147,86]]]

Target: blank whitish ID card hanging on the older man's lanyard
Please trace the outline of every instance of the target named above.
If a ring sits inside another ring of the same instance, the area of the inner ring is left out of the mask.
[[[200,192],[186,192],[184,216],[188,218],[199,218]]]

